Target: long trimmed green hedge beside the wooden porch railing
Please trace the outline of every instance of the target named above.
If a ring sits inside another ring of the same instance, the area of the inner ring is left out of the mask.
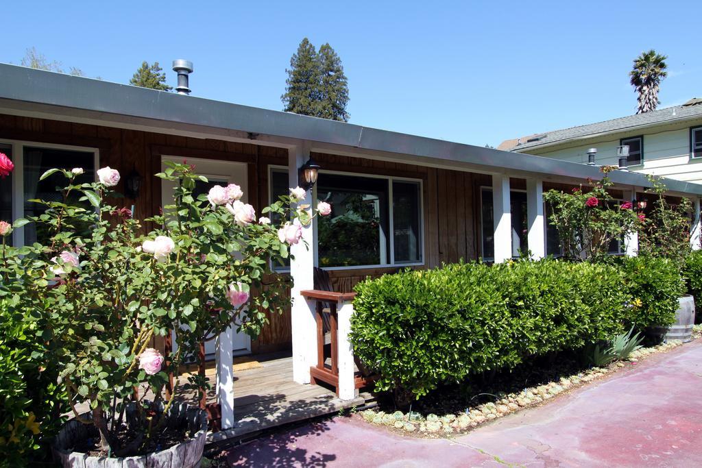
[[[623,330],[628,294],[611,265],[557,260],[402,272],[356,287],[351,340],[378,389],[413,397],[529,356]]]

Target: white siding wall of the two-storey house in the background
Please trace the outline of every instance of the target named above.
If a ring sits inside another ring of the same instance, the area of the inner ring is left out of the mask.
[[[698,126],[695,123],[691,126]],[[648,133],[626,133],[621,138],[644,135],[643,166],[631,166],[631,171],[646,174],[663,175],[671,179],[687,180],[702,183],[702,158],[690,159],[689,127],[664,131],[650,129]],[[616,147],[619,138],[590,140],[586,145],[578,145],[564,149],[526,149],[525,153],[536,154],[548,158],[563,159],[575,163],[587,163],[589,148],[597,148],[595,162],[598,165],[611,164],[616,166]]]

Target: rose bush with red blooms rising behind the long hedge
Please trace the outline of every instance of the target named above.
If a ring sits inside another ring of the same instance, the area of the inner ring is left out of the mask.
[[[552,189],[543,194],[552,206],[549,222],[558,231],[564,257],[570,260],[602,260],[613,241],[637,231],[642,221],[630,201],[620,203],[608,192],[614,183],[607,174],[616,167],[600,170],[604,177],[588,180],[589,189],[576,187],[571,193]]]

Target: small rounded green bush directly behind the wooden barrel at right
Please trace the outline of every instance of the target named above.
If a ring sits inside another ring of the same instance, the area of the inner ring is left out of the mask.
[[[677,299],[685,293],[685,282],[677,264],[649,256],[618,258],[617,263],[631,295],[626,326],[643,331],[673,323]]]

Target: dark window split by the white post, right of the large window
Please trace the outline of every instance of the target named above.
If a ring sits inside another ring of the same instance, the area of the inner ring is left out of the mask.
[[[482,187],[482,256],[486,260],[495,258],[495,227],[493,215],[492,189]],[[519,250],[526,252],[528,219],[527,194],[510,191],[510,211],[512,213],[512,257],[519,256]]]

